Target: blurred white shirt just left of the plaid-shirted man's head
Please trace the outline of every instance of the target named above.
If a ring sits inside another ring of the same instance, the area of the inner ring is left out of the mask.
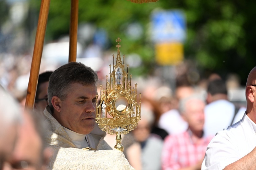
[[[182,119],[178,110],[172,109],[160,116],[158,127],[164,129],[168,134],[173,135],[186,131],[188,124]]]

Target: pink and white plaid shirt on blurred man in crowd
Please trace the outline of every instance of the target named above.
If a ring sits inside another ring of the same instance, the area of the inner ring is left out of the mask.
[[[165,138],[162,151],[163,170],[189,167],[203,159],[206,147],[212,137],[202,137],[197,143],[193,143],[191,134],[191,131],[187,130]]]

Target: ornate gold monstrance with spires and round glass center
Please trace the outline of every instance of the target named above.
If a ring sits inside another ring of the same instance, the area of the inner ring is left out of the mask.
[[[114,64],[113,55],[113,71],[111,72],[111,64],[109,64],[109,81],[106,75],[106,90],[102,90],[100,84],[100,105],[96,106],[96,122],[99,128],[110,135],[116,134],[115,149],[123,152],[123,145],[121,144],[121,134],[127,134],[129,131],[134,130],[138,122],[141,120],[141,94],[140,104],[137,103],[137,83],[134,87],[132,84],[132,74],[128,78],[127,72],[124,70],[124,57],[123,64],[120,56],[119,42],[117,40],[117,56]],[[129,80],[130,79],[130,80]],[[108,116],[109,115],[109,116]]]

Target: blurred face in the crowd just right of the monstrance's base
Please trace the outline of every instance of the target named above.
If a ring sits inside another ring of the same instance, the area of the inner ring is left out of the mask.
[[[138,142],[145,141],[149,137],[149,134],[150,134],[150,126],[149,126],[148,121],[142,119],[138,123],[137,128],[135,128],[133,130],[133,134],[134,134],[135,139]]]

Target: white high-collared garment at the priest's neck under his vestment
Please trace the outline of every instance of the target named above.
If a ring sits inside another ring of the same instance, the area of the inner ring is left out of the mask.
[[[86,135],[71,131],[70,129],[67,129],[64,126],[62,127],[64,128],[65,132],[68,134],[69,138],[76,145],[77,148],[82,149],[82,148],[90,147],[86,140]]]

